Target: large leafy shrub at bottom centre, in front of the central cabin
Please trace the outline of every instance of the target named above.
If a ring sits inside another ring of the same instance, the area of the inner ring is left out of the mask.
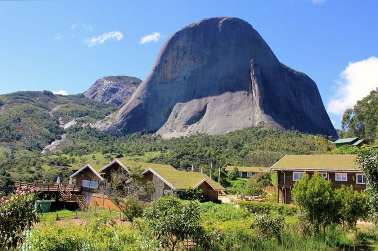
[[[196,245],[203,243],[205,231],[201,226],[200,210],[196,201],[181,201],[172,194],[152,202],[143,217],[157,236],[164,250],[181,250],[184,240]]]

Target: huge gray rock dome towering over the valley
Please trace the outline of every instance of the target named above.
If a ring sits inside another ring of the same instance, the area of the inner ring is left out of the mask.
[[[260,123],[338,137],[313,80],[280,63],[245,21],[217,17],[172,35],[146,80],[102,129],[178,137]]]

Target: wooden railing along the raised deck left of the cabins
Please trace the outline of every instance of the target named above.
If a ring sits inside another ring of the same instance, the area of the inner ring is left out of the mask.
[[[22,188],[31,189],[35,188],[39,192],[59,192],[59,187],[62,191],[69,191],[69,192],[81,192],[81,186],[77,185],[70,185],[65,183],[57,184],[56,182],[49,182],[43,185],[43,183],[29,183],[29,182],[14,182],[15,188]]]

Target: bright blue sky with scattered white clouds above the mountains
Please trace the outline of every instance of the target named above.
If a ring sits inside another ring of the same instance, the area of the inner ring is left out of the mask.
[[[378,87],[377,9],[375,0],[0,2],[0,94],[76,94],[108,75],[143,80],[168,35],[233,16],[317,83],[339,128],[345,108]]]

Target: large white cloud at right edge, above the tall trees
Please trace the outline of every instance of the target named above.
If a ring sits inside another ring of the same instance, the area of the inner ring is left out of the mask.
[[[378,87],[378,58],[349,62],[333,87],[336,91],[328,102],[327,111],[342,115],[345,109],[353,107],[358,100]]]

